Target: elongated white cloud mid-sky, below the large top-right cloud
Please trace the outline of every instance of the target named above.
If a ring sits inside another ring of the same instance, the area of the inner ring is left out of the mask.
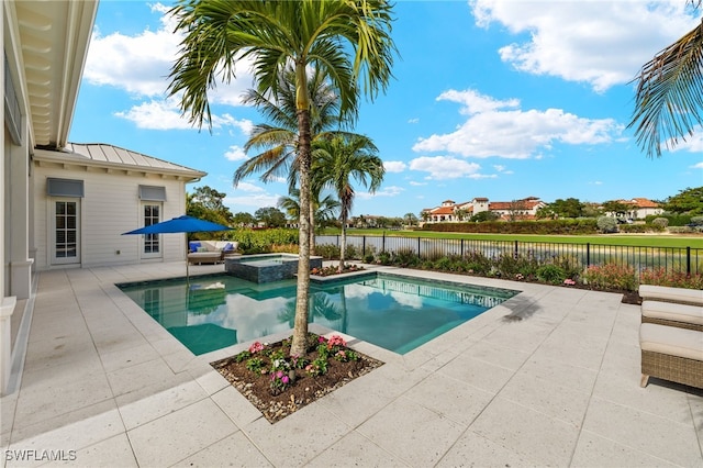
[[[466,157],[525,159],[554,143],[609,143],[623,130],[613,119],[584,119],[560,109],[516,109],[520,101],[499,101],[475,90],[446,91],[438,100],[459,102],[468,120],[455,132],[421,138],[415,152],[449,152]]]

